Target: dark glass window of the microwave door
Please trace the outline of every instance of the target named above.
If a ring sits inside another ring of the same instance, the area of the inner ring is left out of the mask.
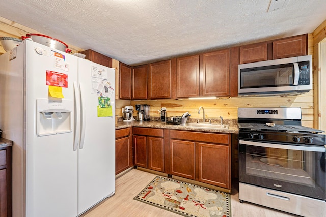
[[[293,64],[241,69],[240,85],[241,89],[293,86]]]

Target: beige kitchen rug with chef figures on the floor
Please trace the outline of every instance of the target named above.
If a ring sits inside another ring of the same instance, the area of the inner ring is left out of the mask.
[[[133,199],[183,216],[231,216],[229,193],[166,177],[156,176]]]

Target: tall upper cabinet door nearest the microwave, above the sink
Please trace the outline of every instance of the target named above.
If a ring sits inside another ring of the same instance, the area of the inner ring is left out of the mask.
[[[202,95],[230,95],[230,49],[203,54]]]

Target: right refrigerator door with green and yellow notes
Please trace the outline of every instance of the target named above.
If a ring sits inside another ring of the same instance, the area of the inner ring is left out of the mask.
[[[115,69],[80,58],[78,69],[80,131],[85,132],[80,135],[82,143],[78,149],[78,214],[82,214],[115,193]],[[94,70],[97,75],[93,74]],[[95,81],[105,78],[106,73],[112,89],[104,88],[104,91],[111,97],[112,116],[98,117],[101,105]]]

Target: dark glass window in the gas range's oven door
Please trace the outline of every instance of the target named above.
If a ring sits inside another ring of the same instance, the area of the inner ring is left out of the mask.
[[[316,153],[247,146],[247,175],[315,187]]]

